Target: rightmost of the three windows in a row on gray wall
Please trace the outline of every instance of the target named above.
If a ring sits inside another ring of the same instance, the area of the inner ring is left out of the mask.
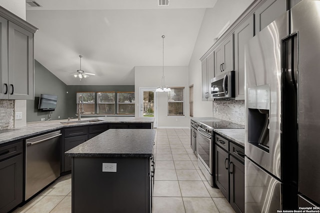
[[[117,92],[117,114],[134,114],[134,92]]]

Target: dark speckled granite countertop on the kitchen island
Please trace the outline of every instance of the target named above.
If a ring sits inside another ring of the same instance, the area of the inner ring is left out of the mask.
[[[109,129],[65,152],[71,157],[151,157],[153,129]]]

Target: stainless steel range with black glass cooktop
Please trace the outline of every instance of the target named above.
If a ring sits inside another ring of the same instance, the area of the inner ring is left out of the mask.
[[[216,187],[214,183],[214,132],[213,129],[243,129],[244,126],[229,121],[214,119],[212,121],[200,121],[198,123],[197,135],[197,156],[198,166],[204,177],[211,185]]]

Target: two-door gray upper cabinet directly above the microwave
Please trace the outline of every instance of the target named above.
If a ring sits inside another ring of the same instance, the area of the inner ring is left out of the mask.
[[[233,34],[214,49],[215,76],[233,70]]]

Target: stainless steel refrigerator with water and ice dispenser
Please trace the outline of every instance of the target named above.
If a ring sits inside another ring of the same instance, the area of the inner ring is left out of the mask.
[[[245,47],[245,212],[320,204],[320,0]]]

